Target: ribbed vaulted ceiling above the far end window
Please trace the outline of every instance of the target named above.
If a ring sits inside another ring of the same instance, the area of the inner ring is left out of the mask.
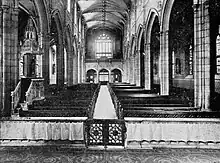
[[[88,29],[123,30],[127,23],[131,0],[79,0]]]

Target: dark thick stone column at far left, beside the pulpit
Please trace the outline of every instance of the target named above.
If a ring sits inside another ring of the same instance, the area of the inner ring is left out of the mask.
[[[8,3],[4,2],[4,3]],[[12,3],[15,5],[15,3]],[[0,105],[3,116],[11,115],[11,91],[18,83],[18,9],[17,6],[3,5],[1,10],[0,35]]]

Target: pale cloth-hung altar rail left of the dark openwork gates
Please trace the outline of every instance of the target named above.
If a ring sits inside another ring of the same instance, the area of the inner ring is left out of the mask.
[[[0,141],[69,140],[84,143],[85,119],[18,119],[0,121]]]

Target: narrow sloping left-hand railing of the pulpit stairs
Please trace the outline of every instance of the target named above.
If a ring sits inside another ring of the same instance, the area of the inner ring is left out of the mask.
[[[21,81],[16,86],[15,90],[11,92],[11,114],[15,113],[21,97]]]

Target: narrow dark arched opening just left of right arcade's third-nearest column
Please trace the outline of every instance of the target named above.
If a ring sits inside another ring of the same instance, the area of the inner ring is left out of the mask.
[[[141,36],[140,43],[140,86],[145,87],[145,49],[144,49],[144,34]]]

